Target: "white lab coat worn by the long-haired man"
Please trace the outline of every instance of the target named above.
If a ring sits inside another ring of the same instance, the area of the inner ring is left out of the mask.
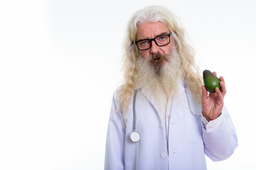
[[[238,146],[236,129],[226,107],[217,123],[202,124],[203,117],[190,113],[182,83],[178,98],[166,103],[171,113],[168,129],[163,126],[155,101],[144,89],[138,89],[136,131],[139,142],[130,140],[133,131],[132,101],[128,114],[121,124],[122,115],[117,112],[117,93],[114,93],[106,140],[105,170],[206,170],[205,155],[213,161],[229,158]],[[201,114],[201,105],[189,94],[192,111]],[[217,127],[214,127],[216,126]],[[166,135],[167,134],[167,144]]]

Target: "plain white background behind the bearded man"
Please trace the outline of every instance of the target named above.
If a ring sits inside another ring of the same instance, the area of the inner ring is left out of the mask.
[[[156,3],[157,2],[157,3]],[[0,169],[102,170],[121,42],[137,9],[168,7],[201,70],[227,86],[239,146],[209,170],[256,169],[254,0],[0,2]]]

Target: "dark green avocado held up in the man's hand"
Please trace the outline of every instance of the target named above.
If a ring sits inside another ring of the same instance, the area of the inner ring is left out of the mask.
[[[220,89],[220,79],[215,76],[211,71],[203,71],[204,87],[208,92],[215,93],[215,88]]]

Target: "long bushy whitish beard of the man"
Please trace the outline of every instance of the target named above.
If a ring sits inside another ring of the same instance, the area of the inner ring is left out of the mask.
[[[173,47],[170,54],[166,54],[163,57],[163,60],[165,60],[163,65],[150,63],[152,58],[154,58],[153,55],[147,59],[139,56],[136,65],[136,85],[139,88],[143,87],[149,90],[156,100],[163,97],[160,94],[164,91],[165,97],[168,100],[178,90],[177,79],[181,75],[179,54],[177,54],[176,48]]]

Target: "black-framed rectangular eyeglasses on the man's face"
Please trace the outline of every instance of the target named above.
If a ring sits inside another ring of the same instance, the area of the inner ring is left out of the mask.
[[[170,34],[164,34],[164,35],[159,35],[153,39],[142,39],[139,41],[135,41],[135,44],[137,45],[139,50],[148,50],[151,47],[151,41],[155,41],[155,44],[157,46],[166,46],[167,44],[170,43]]]

